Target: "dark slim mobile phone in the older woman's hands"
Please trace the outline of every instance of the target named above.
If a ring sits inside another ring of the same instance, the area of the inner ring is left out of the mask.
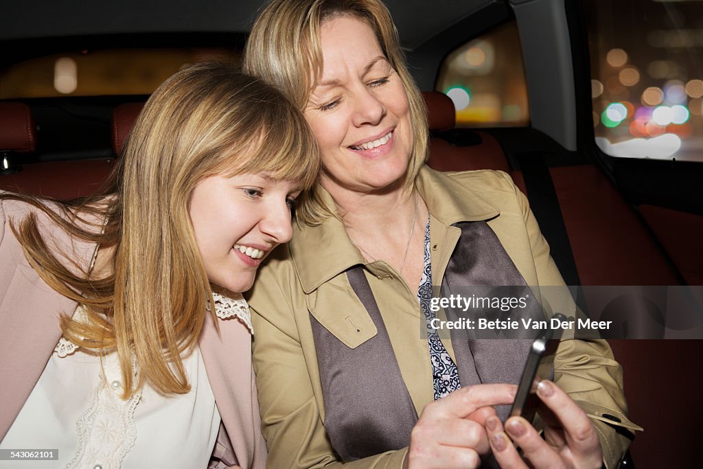
[[[555,314],[555,319],[566,319],[562,314]],[[555,333],[556,332],[556,333]],[[534,413],[539,404],[537,397],[537,385],[541,380],[550,378],[552,374],[552,360],[548,359],[556,352],[561,338],[561,331],[545,331],[540,338],[532,342],[532,345],[527,355],[527,362],[522,370],[520,384],[517,386],[515,401],[510,409],[510,416],[522,416],[528,422],[534,418]]]

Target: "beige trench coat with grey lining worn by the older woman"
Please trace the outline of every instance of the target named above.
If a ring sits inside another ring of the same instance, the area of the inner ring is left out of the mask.
[[[460,229],[451,224],[487,220],[527,285],[564,285],[527,199],[507,174],[439,173],[425,167],[418,190],[430,211],[432,278],[442,278],[460,236]],[[331,198],[327,201],[334,206]],[[418,333],[421,313],[415,289],[385,262],[366,262],[338,219],[330,217],[316,227],[297,226],[288,248],[274,252],[262,268],[250,296],[257,330],[254,369],[271,468],[401,468],[407,449],[341,463],[323,426],[323,390],[309,314],[352,348],[375,335],[373,322],[344,275],[356,264],[365,264],[418,415],[433,399],[427,341]],[[550,302],[555,310],[574,308],[570,298]],[[451,342],[443,342],[453,356]],[[612,468],[629,439],[605,424],[613,422],[602,415],[616,416],[624,428],[638,427],[626,418],[621,368],[607,342],[563,341],[555,356],[555,382],[593,418],[605,462]]]

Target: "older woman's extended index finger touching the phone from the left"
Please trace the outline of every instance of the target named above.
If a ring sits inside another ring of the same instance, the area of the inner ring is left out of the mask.
[[[421,418],[465,418],[481,407],[512,404],[516,391],[517,386],[505,384],[463,387],[427,404]]]

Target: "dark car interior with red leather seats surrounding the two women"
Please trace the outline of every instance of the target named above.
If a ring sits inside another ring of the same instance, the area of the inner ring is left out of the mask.
[[[196,51],[184,63],[202,51],[219,58],[224,50],[225,60],[238,60],[262,2],[97,1],[81,11],[39,3],[31,14],[20,2],[4,6],[0,72],[65,51],[90,56],[116,48]],[[427,103],[428,164],[508,172],[527,195],[568,285],[702,285],[703,146],[694,159],[677,160],[617,158],[595,143],[588,20],[605,0],[439,3],[386,1]],[[689,6],[695,8],[682,8]],[[700,32],[703,7],[697,8]],[[437,89],[442,63],[467,40],[506,24],[517,25],[520,36],[529,117],[467,127],[455,102]],[[703,44],[697,47],[703,56]],[[110,73],[117,72],[105,80]],[[148,91],[0,97],[0,189],[67,200],[101,187]],[[645,428],[631,446],[629,467],[695,465],[703,406],[688,362],[702,354],[702,341],[610,342],[624,366],[631,420]]]

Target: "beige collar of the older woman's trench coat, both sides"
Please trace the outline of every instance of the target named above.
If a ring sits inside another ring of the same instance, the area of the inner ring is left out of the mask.
[[[430,214],[446,226],[460,221],[487,220],[500,214],[494,205],[451,177],[451,173],[425,166],[420,169],[415,185]],[[335,207],[327,191],[321,190],[321,196],[328,207]],[[296,225],[289,249],[305,293],[311,293],[351,266],[366,264],[349,240],[344,224],[336,217],[328,217],[318,226]]]

